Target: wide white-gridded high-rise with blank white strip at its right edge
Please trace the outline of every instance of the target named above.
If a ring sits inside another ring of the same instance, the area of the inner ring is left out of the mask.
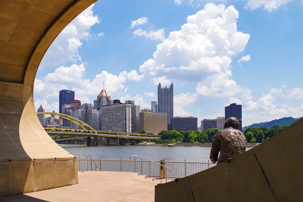
[[[132,132],[132,104],[111,104],[101,107],[102,131]]]

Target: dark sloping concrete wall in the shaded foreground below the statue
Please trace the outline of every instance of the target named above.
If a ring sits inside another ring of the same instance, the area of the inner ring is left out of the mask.
[[[303,201],[303,118],[270,140],[205,171],[155,187],[160,201]]]

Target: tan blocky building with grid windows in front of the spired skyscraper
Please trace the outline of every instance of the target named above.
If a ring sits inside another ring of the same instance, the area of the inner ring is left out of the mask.
[[[139,113],[139,131],[158,135],[167,131],[167,114],[165,112],[151,112],[151,109],[142,109]]]

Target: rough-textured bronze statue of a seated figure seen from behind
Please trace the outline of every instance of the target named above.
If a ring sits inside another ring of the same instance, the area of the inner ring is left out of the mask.
[[[228,158],[242,154],[246,150],[244,134],[238,130],[239,120],[235,117],[228,118],[224,124],[224,130],[218,131],[211,145],[210,160],[220,164]],[[218,159],[218,154],[220,156]]]

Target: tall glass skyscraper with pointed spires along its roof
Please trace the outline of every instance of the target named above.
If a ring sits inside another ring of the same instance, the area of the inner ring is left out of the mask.
[[[174,117],[174,85],[171,83],[169,88],[161,88],[158,85],[158,112],[167,113],[167,128],[171,130],[171,118]]]

